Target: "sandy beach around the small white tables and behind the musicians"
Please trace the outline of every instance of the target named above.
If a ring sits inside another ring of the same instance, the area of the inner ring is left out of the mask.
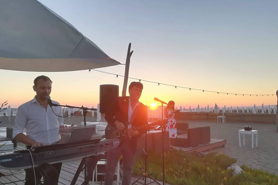
[[[11,117],[11,123],[8,117],[0,117],[1,127],[12,127],[14,125],[15,116]],[[96,120],[96,117],[94,117]],[[87,121],[92,122],[92,116],[87,116]],[[104,119],[102,118],[102,121]],[[83,125],[81,116],[74,116],[64,119],[65,124]],[[218,147],[212,152],[224,153],[230,157],[237,159],[237,164],[246,164],[252,168],[263,169],[271,173],[278,174],[278,137],[276,133],[276,125],[269,123],[216,123],[212,121],[192,121],[177,120],[181,123],[189,123],[189,127],[210,126],[211,138],[226,139],[225,148]],[[251,149],[251,136],[245,137],[246,145],[240,148],[238,139],[238,130],[244,129],[244,126],[252,126],[253,130],[258,130],[258,147]],[[22,145],[19,143],[19,145]],[[208,151],[208,152],[211,152]]]

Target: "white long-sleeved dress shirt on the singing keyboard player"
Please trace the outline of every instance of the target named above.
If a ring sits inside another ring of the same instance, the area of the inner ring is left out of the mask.
[[[53,101],[60,105],[57,101]],[[53,106],[54,112],[58,116],[63,116],[62,108]],[[14,138],[19,133],[26,130],[26,136],[44,143],[45,145],[55,143],[61,139],[59,134],[60,125],[64,125],[64,118],[56,116],[50,106],[47,108],[41,106],[36,100],[36,96],[31,101],[28,101],[17,110],[17,116],[14,120],[12,137]]]

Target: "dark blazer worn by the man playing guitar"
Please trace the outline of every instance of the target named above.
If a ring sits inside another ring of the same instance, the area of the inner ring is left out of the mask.
[[[115,121],[119,121],[125,123],[128,121],[128,102],[129,96],[118,97],[111,105],[111,107],[105,113],[105,120],[108,124],[112,126],[116,126],[114,123]],[[140,126],[148,124],[148,116],[147,116],[147,106],[143,103],[139,103],[136,106],[132,117],[131,117],[131,124],[132,126]],[[144,134],[146,130],[139,130],[138,138]],[[137,137],[132,138],[132,143],[137,146]],[[134,150],[135,151],[135,150]]]

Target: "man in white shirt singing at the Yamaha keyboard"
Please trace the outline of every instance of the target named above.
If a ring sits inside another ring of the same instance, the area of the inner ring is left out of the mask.
[[[51,93],[52,81],[47,76],[38,76],[34,79],[33,90],[36,92],[34,99],[19,106],[14,120],[13,138],[27,145],[27,149],[49,145],[61,139],[59,127],[65,127],[64,119],[56,116],[45,99]],[[53,103],[59,104],[56,101]],[[53,107],[54,112],[63,116],[61,107]],[[23,134],[26,130],[26,136]],[[47,130],[56,129],[47,132]],[[46,132],[45,132],[46,131]],[[56,182],[61,171],[62,163],[52,164],[57,170]],[[25,169],[25,185],[35,184],[33,168]],[[36,180],[41,179],[41,174],[35,168]],[[40,182],[40,181],[39,181]]]

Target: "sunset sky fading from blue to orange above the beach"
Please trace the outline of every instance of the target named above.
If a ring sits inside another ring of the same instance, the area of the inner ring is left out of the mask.
[[[218,95],[142,82],[144,104],[147,99],[150,105],[154,97],[185,108],[277,103],[278,1],[40,2],[121,63],[131,42],[130,77],[219,92],[274,94]],[[125,66],[99,70],[124,75]],[[96,107],[100,84],[117,84],[122,92],[123,77],[96,71],[0,70],[0,102],[8,100],[16,108],[31,100],[33,80],[39,75],[52,79],[50,96],[61,104]]]

